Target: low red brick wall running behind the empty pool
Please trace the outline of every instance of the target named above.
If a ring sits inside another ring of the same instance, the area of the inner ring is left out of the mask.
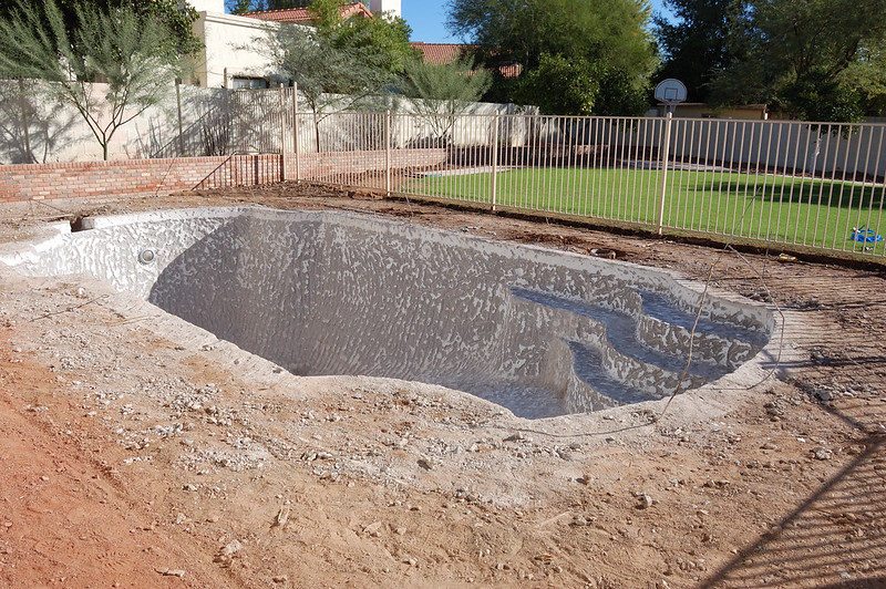
[[[141,197],[194,188],[269,184],[280,179],[279,155],[126,159],[0,166],[0,204],[28,200]],[[446,159],[444,149],[399,149],[392,168],[427,167]],[[328,179],[384,170],[384,152],[302,154],[301,179]],[[296,157],[286,156],[286,178],[296,179]]]

